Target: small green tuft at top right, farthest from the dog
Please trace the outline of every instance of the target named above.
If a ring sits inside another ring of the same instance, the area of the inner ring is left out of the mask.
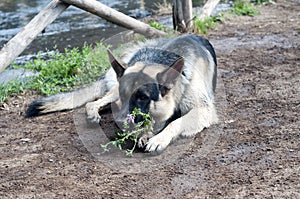
[[[231,12],[236,15],[247,15],[251,17],[260,13],[253,4],[242,0],[234,2]]]

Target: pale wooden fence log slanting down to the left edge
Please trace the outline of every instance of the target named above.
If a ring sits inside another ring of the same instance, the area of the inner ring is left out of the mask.
[[[59,0],[51,1],[17,35],[7,42],[0,51],[0,73],[68,6]]]

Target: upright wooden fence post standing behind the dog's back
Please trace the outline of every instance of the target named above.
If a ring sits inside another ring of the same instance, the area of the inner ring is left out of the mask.
[[[193,28],[192,0],[173,1],[173,26],[179,32]]]

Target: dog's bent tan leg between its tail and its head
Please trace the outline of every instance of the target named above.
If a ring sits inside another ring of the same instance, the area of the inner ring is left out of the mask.
[[[119,98],[118,86],[113,87],[102,98],[94,102],[89,102],[85,105],[87,119],[91,122],[100,123],[101,116],[99,115],[99,109],[116,101]]]

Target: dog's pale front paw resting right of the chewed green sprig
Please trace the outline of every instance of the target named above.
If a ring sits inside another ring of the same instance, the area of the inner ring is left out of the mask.
[[[162,153],[170,144],[171,139],[163,134],[157,134],[147,142],[146,151],[150,153]]]

